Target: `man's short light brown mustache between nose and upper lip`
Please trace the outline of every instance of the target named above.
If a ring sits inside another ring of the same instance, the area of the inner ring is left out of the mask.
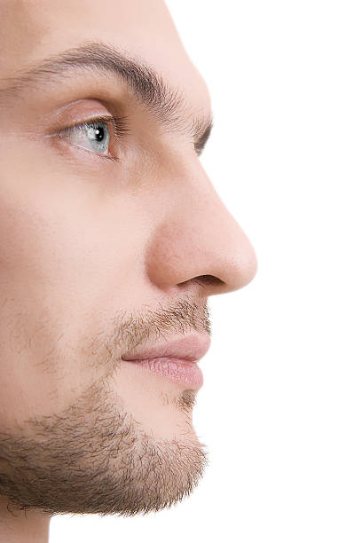
[[[185,335],[192,331],[207,333],[211,336],[211,321],[208,303],[196,303],[182,300],[169,308],[138,311],[126,314],[123,311],[114,319],[114,334],[106,342],[107,350],[114,352],[122,348],[125,352],[138,345],[155,342],[161,337]]]

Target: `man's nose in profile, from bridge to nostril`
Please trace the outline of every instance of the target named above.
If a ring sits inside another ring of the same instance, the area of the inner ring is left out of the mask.
[[[216,295],[245,287],[255,277],[254,248],[199,160],[177,175],[173,170],[157,214],[146,256],[153,284],[169,289],[194,279],[202,282],[204,295]]]

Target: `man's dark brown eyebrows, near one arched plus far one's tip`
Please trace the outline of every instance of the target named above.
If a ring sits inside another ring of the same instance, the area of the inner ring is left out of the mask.
[[[51,80],[67,77],[67,73],[73,74],[77,69],[97,70],[121,78],[159,122],[168,130],[190,136],[195,151],[201,154],[213,126],[212,115],[195,116],[182,92],[172,89],[153,67],[103,42],[83,43],[43,59],[20,75],[0,79],[0,85],[4,81],[8,83],[6,87],[0,87],[0,100],[17,98],[29,86],[49,84]]]

